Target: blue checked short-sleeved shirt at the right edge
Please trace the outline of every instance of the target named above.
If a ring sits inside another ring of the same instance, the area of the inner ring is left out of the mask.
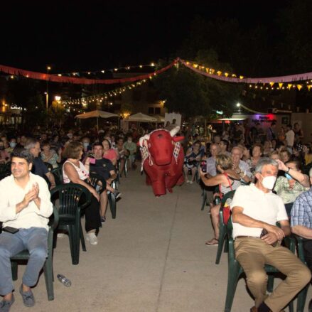
[[[295,225],[312,229],[312,188],[298,195],[291,208],[291,226]]]

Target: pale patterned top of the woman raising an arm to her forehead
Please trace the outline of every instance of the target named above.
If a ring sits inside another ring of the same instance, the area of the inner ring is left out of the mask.
[[[277,178],[274,190],[276,194],[281,197],[284,201],[284,204],[294,203],[298,195],[303,193],[308,188],[305,188],[303,185],[296,181],[292,188],[289,187],[289,180],[284,176],[279,176]]]

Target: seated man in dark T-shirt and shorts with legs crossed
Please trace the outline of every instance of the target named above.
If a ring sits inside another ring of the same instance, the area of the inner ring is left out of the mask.
[[[90,173],[96,173],[97,175],[101,176],[103,178],[103,183],[105,181],[105,185],[100,185],[102,186],[102,190],[99,197],[99,215],[101,222],[104,223],[106,220],[105,214],[108,202],[107,190],[114,193],[116,199],[120,198],[122,193],[114,190],[114,188],[111,186],[112,181],[114,181],[114,179],[117,177],[115,171],[116,168],[113,166],[112,161],[109,161],[107,158],[103,158],[104,149],[102,144],[93,144],[92,153],[94,154],[94,158],[87,158],[85,168],[87,168]]]

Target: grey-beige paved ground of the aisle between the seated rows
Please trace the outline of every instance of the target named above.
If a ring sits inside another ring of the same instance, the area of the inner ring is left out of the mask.
[[[99,244],[87,244],[87,252],[80,252],[80,264],[71,264],[67,237],[58,239],[55,274],[65,274],[72,286],[56,280],[55,300],[48,301],[41,276],[33,289],[36,306],[24,308],[16,294],[11,311],[223,311],[227,254],[216,265],[217,248],[205,246],[211,224],[207,209],[200,211],[199,186],[183,185],[155,198],[138,170],[121,182],[117,218],[112,220],[107,213]],[[23,266],[19,273],[16,289]],[[241,279],[232,311],[249,311],[252,304]]]

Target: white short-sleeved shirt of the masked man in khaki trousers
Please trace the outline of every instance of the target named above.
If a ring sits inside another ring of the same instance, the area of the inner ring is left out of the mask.
[[[283,200],[272,192],[264,193],[254,183],[237,188],[230,207],[231,209],[242,207],[244,215],[270,225],[276,225],[276,222],[281,220],[288,220]],[[234,238],[237,236],[259,237],[262,230],[259,227],[244,227],[233,222]]]

